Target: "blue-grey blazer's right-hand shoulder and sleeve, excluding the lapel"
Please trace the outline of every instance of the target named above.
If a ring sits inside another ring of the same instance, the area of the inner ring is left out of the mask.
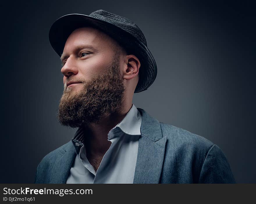
[[[235,183],[217,145],[182,128],[162,122],[160,126],[167,138],[163,183]]]

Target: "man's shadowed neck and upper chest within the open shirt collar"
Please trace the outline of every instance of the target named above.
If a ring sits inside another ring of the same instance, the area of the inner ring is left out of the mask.
[[[109,149],[111,141],[108,140],[109,131],[115,127],[128,111],[131,109],[132,103],[126,104],[118,113],[111,113],[102,118],[98,123],[85,124],[85,146],[86,154],[91,157],[101,157]]]

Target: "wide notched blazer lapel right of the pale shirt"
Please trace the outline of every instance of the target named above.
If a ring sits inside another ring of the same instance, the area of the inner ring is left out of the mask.
[[[167,137],[162,136],[157,119],[137,109],[142,114],[142,122],[133,183],[159,183]]]

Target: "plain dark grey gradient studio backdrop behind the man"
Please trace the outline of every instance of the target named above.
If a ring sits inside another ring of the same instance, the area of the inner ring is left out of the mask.
[[[73,137],[56,119],[63,75],[48,32],[63,15],[98,9],[134,21],[157,62],[155,82],[134,94],[136,107],[211,140],[237,183],[256,183],[255,6],[188,2],[2,4],[0,183],[33,183],[40,160]]]

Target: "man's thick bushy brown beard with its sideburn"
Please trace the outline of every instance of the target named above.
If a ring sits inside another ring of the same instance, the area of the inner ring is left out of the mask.
[[[69,127],[99,123],[112,113],[119,113],[125,92],[116,53],[104,73],[93,76],[90,81],[76,79],[83,83],[80,91],[64,87],[58,109],[58,121]]]

